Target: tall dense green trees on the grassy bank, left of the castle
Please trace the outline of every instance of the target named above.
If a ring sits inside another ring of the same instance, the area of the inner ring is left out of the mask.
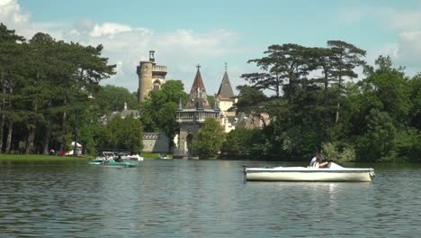
[[[96,147],[99,83],[115,69],[102,50],[41,32],[26,41],[0,24],[0,152],[69,151],[77,136]]]

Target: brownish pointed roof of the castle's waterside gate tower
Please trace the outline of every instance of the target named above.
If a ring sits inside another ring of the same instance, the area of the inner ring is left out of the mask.
[[[192,89],[190,90],[189,100],[185,107],[187,109],[211,109],[199,66],[197,68],[196,76],[194,77]]]

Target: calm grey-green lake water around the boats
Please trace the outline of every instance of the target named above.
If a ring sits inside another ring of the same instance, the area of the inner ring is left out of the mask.
[[[378,165],[372,183],[244,183],[242,165],[287,164],[0,164],[0,237],[421,235],[419,166]]]

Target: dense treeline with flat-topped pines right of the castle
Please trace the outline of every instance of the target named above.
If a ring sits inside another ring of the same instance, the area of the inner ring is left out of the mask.
[[[251,59],[258,73],[242,75],[237,110],[269,114],[263,130],[235,130],[222,153],[262,160],[307,160],[323,151],[327,160],[421,160],[421,74],[413,78],[380,56],[344,41],[326,48],[272,45]],[[363,69],[357,78],[355,69]],[[266,96],[264,91],[273,91]]]

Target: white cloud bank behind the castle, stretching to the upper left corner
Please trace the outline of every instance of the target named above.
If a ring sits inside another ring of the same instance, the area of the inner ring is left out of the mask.
[[[140,60],[148,59],[148,50],[156,50],[157,64],[168,67],[167,79],[182,79],[185,90],[191,87],[195,66],[202,64],[202,77],[207,91],[216,92],[223,76],[224,62],[236,53],[249,49],[237,45],[237,32],[219,29],[210,32],[194,32],[178,29],[156,32],[152,29],[121,23],[94,23],[84,18],[76,23],[32,22],[29,14],[23,14],[17,0],[0,0],[0,22],[16,30],[27,39],[36,32],[46,32],[58,40],[77,41],[84,45],[103,44],[103,56],[110,64],[116,64],[116,75],[103,84],[126,87],[131,92],[139,87],[136,67]],[[246,62],[239,62],[246,65]],[[246,66],[248,67],[248,66]],[[231,67],[230,78],[236,87],[241,65]],[[241,84],[244,84],[242,82]]]

